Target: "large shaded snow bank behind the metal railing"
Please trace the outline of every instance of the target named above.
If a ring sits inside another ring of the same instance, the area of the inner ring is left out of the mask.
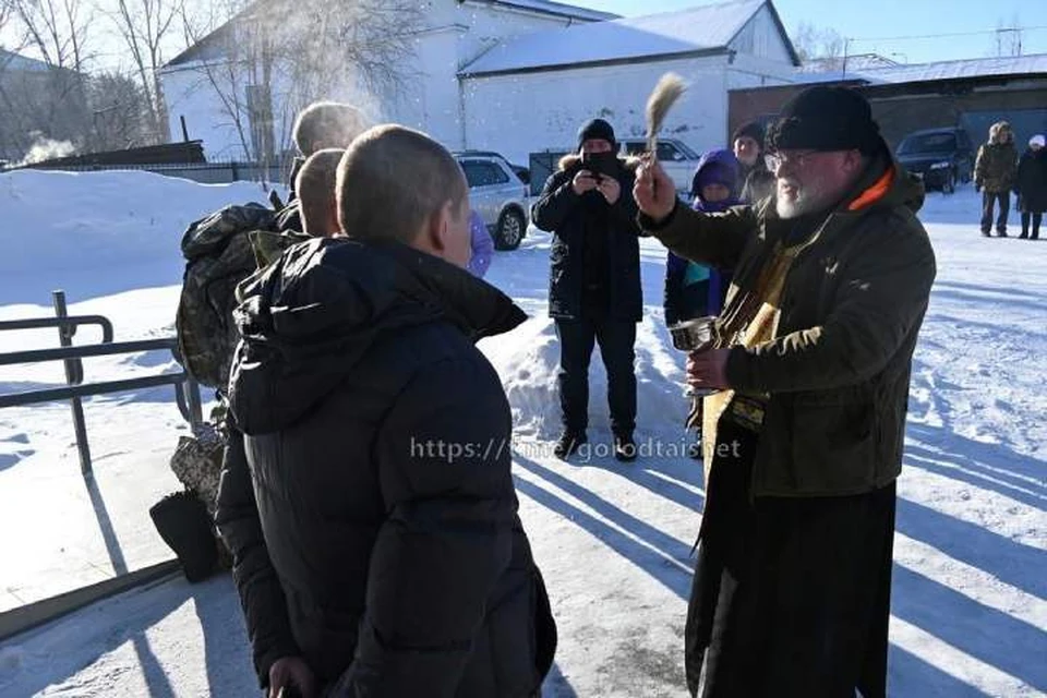
[[[260,184],[141,171],[0,173],[0,302],[48,303],[59,287],[75,299],[174,284],[189,224],[248,201],[266,201]]]

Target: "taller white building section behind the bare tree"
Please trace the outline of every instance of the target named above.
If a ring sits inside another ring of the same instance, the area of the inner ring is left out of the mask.
[[[264,1],[253,7],[261,9]],[[257,85],[244,71],[232,76],[224,55],[224,35],[246,16],[241,13],[160,69],[172,137],[182,136],[184,119],[189,137],[203,140],[209,159],[253,159],[253,153],[261,149],[254,142],[261,140],[257,123],[241,122],[238,129],[232,111],[242,111],[240,118],[246,121],[254,116],[253,111],[267,112],[272,116],[276,149],[290,145],[287,137],[296,108],[286,104],[288,91],[279,79],[273,81],[268,99],[258,99]],[[449,147],[460,147],[465,136],[457,73],[461,67],[514,36],[616,16],[547,0],[429,0],[424,26],[414,40],[414,60],[405,67],[406,72],[416,75],[409,94],[381,100],[352,86],[332,85],[328,97],[363,107],[374,122],[404,123],[428,132]],[[232,99],[239,100],[237,109],[230,109]],[[254,110],[254,104],[265,104],[266,108]]]

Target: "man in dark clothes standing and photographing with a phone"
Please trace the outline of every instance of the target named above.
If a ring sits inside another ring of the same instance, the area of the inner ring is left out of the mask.
[[[561,458],[588,441],[589,361],[594,344],[607,370],[614,454],[636,458],[636,324],[642,317],[640,250],[633,171],[617,157],[614,129],[593,119],[578,131],[578,154],[559,163],[531,208],[553,232],[549,314],[559,337]]]

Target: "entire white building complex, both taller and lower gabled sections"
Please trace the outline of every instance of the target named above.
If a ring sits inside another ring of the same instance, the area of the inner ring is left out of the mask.
[[[770,0],[628,20],[546,0],[432,0],[425,17],[410,94],[376,100],[333,86],[330,97],[362,104],[376,122],[421,129],[450,148],[500,151],[520,163],[531,152],[573,148],[578,125],[594,116],[622,135],[642,134],[647,96],[666,71],[689,88],[664,134],[698,151],[723,146],[727,91],[792,82],[799,63]],[[245,158],[257,149],[251,145],[261,137],[258,124],[238,130],[203,80],[204,67],[222,61],[208,39],[161,70],[171,132],[182,133],[184,117],[189,136],[204,141],[209,158]],[[242,89],[244,104],[258,103],[256,86]],[[281,89],[273,93],[263,112],[286,146],[293,109]]]

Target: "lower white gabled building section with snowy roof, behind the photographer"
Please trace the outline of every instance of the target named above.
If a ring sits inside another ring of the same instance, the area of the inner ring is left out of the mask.
[[[508,39],[459,73],[465,145],[527,161],[570,149],[592,117],[621,136],[646,130],[659,77],[689,85],[663,135],[702,152],[726,145],[727,91],[793,82],[796,52],[770,0],[735,0]]]

